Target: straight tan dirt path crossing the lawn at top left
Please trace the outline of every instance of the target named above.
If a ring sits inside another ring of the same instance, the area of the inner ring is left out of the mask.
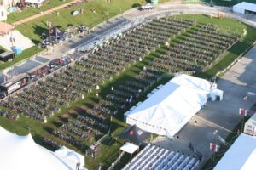
[[[64,3],[64,4],[62,4],[62,5],[58,6],[58,7],[50,8],[49,10],[46,10],[46,11],[40,13],[40,14],[35,14],[35,15],[32,15],[32,16],[30,16],[30,17],[24,19],[24,20],[16,21],[16,22],[14,22],[12,25],[13,25],[13,26],[19,26],[20,24],[23,24],[23,23],[28,22],[28,21],[30,21],[30,20],[37,19],[37,18],[39,18],[39,17],[41,17],[41,16],[44,16],[45,14],[52,14],[52,13],[54,13],[55,11],[57,11],[57,10],[59,10],[59,9],[61,9],[61,8],[66,8],[66,7],[68,7],[69,5],[72,5],[73,3],[76,3],[76,4],[77,4],[77,3],[82,3],[82,0],[73,0],[72,2]]]

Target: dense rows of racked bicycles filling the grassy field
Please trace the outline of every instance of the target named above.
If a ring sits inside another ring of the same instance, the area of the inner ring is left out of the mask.
[[[186,32],[192,26],[195,29]],[[201,71],[239,37],[221,33],[215,26],[197,25],[191,20],[154,19],[110,39],[102,48],[80,54],[75,63],[1,100],[0,105],[6,110],[0,110],[0,115],[17,117],[22,114],[45,122],[46,116],[83,99],[84,94],[99,88],[130,65],[143,61],[149,52],[166,45],[172,37],[183,32],[186,32],[186,37],[177,38],[177,42],[166,46],[166,53],[148,60],[143,68],[138,69],[137,76],[119,83],[108,94],[97,96],[98,101],[83,113],[68,117],[67,123],[52,131],[55,137],[66,143],[82,147],[84,141],[93,141],[96,135],[108,133],[109,117],[134,105],[156,79],[166,72]]]

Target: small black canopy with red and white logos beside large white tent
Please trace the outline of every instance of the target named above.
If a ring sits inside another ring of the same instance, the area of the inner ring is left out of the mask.
[[[143,131],[136,125],[125,128],[125,130],[119,134],[119,138],[127,139],[135,144],[143,143],[144,139],[148,137],[150,133]]]

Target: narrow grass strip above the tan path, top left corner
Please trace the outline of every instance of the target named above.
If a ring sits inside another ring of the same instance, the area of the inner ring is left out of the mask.
[[[72,0],[48,0],[48,1],[45,1],[42,7],[40,8],[29,7],[29,8],[23,9],[20,13],[16,12],[16,13],[9,14],[7,22],[11,24],[18,20],[26,19],[27,17],[30,17],[34,14],[39,14],[41,11],[46,11],[50,8],[55,8],[57,6],[60,6],[63,3],[68,3],[71,1]]]

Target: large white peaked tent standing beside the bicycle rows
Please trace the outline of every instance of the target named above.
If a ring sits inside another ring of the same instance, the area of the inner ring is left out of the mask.
[[[126,122],[145,131],[173,137],[207,103],[212,82],[178,75],[133,111],[126,112]]]

